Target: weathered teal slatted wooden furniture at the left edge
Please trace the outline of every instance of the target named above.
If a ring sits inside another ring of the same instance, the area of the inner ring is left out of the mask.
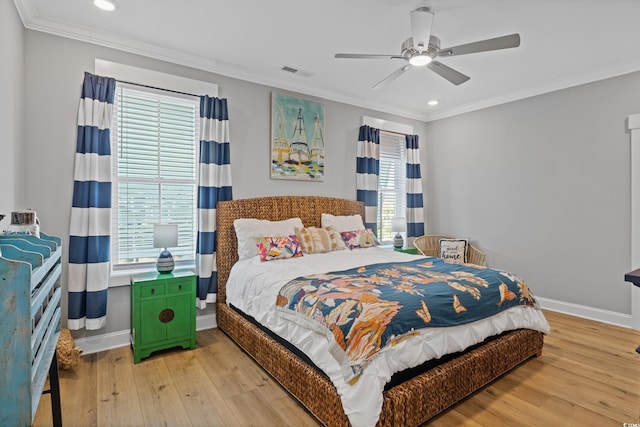
[[[53,425],[62,425],[56,344],[62,241],[0,235],[0,425],[33,423],[47,374]]]

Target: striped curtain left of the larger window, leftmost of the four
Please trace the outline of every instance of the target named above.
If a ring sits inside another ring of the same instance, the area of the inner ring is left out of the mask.
[[[115,87],[112,78],[84,74],[69,226],[69,329],[100,329],[107,320]]]

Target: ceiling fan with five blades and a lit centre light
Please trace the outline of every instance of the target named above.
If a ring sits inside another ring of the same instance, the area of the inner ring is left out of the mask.
[[[404,59],[408,62],[373,85],[373,89],[380,89],[386,86],[413,67],[422,67],[425,65],[431,71],[441,77],[444,77],[457,86],[469,80],[470,77],[444,65],[440,61],[436,61],[436,58],[466,55],[469,53],[486,52],[490,50],[509,49],[520,46],[520,35],[510,34],[508,36],[480,40],[473,43],[441,49],[440,39],[431,34],[433,17],[434,14],[428,7],[419,7],[416,10],[411,11],[411,37],[402,43],[400,55],[336,53],[335,57],[350,59]]]

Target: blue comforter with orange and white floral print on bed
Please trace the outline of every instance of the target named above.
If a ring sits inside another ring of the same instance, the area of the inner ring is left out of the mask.
[[[420,328],[455,326],[507,309],[538,308],[511,273],[420,258],[299,277],[282,287],[278,312],[324,334],[348,381]]]

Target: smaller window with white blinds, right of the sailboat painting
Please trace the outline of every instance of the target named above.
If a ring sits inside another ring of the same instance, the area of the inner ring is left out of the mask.
[[[392,243],[391,219],[405,217],[407,149],[404,135],[380,132],[380,176],[378,181],[378,239]]]

